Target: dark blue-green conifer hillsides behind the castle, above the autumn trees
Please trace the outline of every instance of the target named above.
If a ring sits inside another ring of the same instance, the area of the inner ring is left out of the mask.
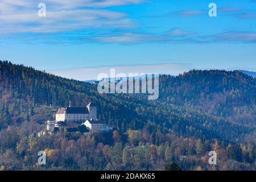
[[[122,131],[159,125],[186,137],[255,138],[256,79],[238,71],[161,76],[156,101],[136,94],[100,95],[95,85],[7,61],[0,62],[0,78],[0,128],[30,119],[44,123],[71,100],[75,106],[96,102],[99,117]]]

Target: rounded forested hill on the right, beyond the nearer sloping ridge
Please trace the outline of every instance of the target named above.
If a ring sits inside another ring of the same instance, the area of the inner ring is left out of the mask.
[[[255,129],[256,78],[238,71],[194,70],[178,77],[163,76],[161,83],[159,101],[208,115],[216,121],[199,119],[203,126],[229,122]],[[251,139],[254,138],[255,135]]]

